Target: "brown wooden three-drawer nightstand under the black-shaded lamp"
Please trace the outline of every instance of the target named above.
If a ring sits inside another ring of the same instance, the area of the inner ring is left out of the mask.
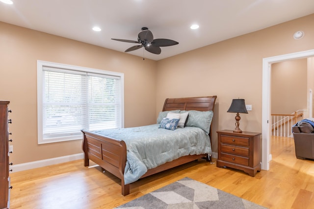
[[[262,134],[254,132],[234,133],[232,130],[217,131],[217,167],[243,170],[250,176],[261,171]]]

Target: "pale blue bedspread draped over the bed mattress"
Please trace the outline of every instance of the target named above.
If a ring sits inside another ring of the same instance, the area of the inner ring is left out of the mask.
[[[124,129],[94,131],[127,145],[127,164],[124,182],[130,184],[148,169],[185,155],[210,154],[209,135],[197,127],[177,128],[174,131],[158,128],[159,124]]]

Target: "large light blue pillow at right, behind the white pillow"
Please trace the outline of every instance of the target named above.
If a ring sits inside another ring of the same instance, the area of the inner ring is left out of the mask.
[[[210,111],[181,111],[181,113],[188,112],[188,118],[185,126],[198,127],[203,129],[206,134],[209,134],[210,124],[213,116],[213,112]]]

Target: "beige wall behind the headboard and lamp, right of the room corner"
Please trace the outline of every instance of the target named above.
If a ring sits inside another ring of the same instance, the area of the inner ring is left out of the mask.
[[[234,98],[252,104],[240,114],[240,129],[262,132],[262,59],[314,49],[314,15],[205,46],[158,61],[157,112],[166,97],[217,95],[212,150],[219,129],[234,129],[235,114],[227,113]],[[303,30],[305,36],[293,39]]]

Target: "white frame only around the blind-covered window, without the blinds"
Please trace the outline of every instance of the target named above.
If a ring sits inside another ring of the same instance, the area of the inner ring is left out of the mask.
[[[121,127],[124,128],[124,73],[112,72],[107,70],[98,70],[91,68],[84,68],[73,65],[66,65],[60,63],[47,62],[37,60],[37,130],[38,130],[38,144],[53,143],[60,141],[70,141],[82,139],[81,135],[75,135],[73,137],[61,137],[52,139],[43,139],[43,68],[52,67],[66,70],[77,70],[82,72],[104,74],[108,76],[118,76],[121,81]]]

